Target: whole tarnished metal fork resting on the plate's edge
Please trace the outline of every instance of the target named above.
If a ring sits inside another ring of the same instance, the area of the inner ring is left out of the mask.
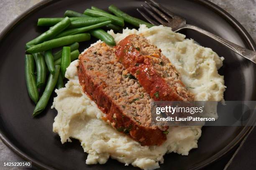
[[[239,45],[234,44],[233,42],[230,42],[228,40],[225,40],[221,37],[218,37],[217,35],[214,35],[206,30],[203,30],[202,28],[199,28],[194,25],[189,25],[186,23],[186,20],[178,15],[175,15],[171,11],[167,10],[165,7],[160,5],[159,3],[155,2],[154,0],[150,0],[151,2],[145,1],[145,3],[148,5],[148,7],[141,5],[155,20],[157,20],[159,23],[161,23],[164,26],[171,27],[174,32],[177,32],[178,30],[181,30],[183,28],[192,29],[195,31],[198,31],[204,35],[207,35],[208,37],[211,37],[213,40],[220,42],[222,45],[228,47],[230,50],[233,50],[237,54],[241,55],[242,57],[247,58],[248,60],[251,60],[256,64],[256,52],[252,50],[248,50],[244,47],[241,47]],[[141,15],[148,20],[153,25],[159,25],[156,21],[152,20],[150,17],[148,17],[145,13],[143,13],[141,10],[137,8],[138,12],[141,13]],[[153,11],[152,11],[153,10]]]

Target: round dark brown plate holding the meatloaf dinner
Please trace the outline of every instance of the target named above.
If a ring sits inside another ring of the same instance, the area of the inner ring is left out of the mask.
[[[256,45],[248,32],[228,13],[205,0],[158,0],[187,19],[187,23],[197,25],[238,45],[255,50]],[[28,97],[24,78],[24,45],[39,35],[44,29],[36,26],[41,17],[61,17],[65,10],[83,12],[94,5],[107,10],[111,4],[135,17],[142,0],[46,0],[32,7],[13,21],[0,35],[0,137],[23,158],[33,165],[46,169],[138,169],[124,166],[117,160],[108,160],[105,165],[86,165],[87,154],[77,140],[61,144],[58,135],[52,132],[56,110],[49,106],[38,117],[33,118],[34,105]],[[143,19],[143,18],[142,18]],[[225,100],[256,100],[256,65],[243,59],[222,45],[192,30],[182,33],[195,39],[201,45],[212,48],[224,56],[220,74],[225,76]],[[80,51],[90,42],[83,42]],[[228,113],[227,113],[228,114]],[[234,147],[249,127],[204,127],[198,141],[199,148],[191,150],[189,156],[175,153],[164,156],[162,170],[199,169],[212,163]]]

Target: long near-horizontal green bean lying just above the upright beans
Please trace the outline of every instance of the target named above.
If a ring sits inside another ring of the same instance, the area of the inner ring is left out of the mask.
[[[90,40],[90,38],[91,38],[91,36],[88,33],[69,35],[66,37],[61,37],[61,38],[57,38],[54,40],[49,40],[49,41],[43,42],[38,45],[34,45],[33,47],[28,48],[28,50],[26,50],[26,52],[35,53],[35,52],[46,51],[46,50],[50,50],[50,49],[53,49],[56,47],[69,45],[74,42],[87,41],[87,40]]]

